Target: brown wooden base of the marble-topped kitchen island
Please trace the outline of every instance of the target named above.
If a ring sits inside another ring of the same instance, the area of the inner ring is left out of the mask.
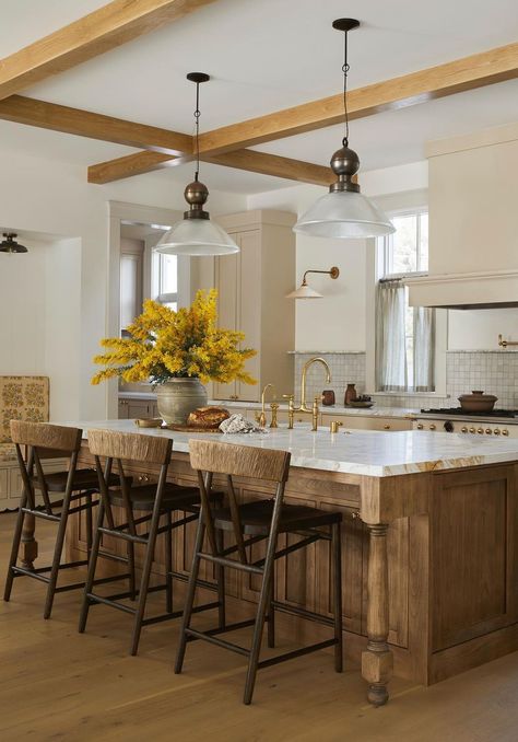
[[[86,442],[81,463],[93,463]],[[392,672],[428,685],[518,649],[517,471],[495,464],[369,477],[292,467],[287,502],[343,513],[345,651],[361,658],[372,704],[387,702]],[[131,472],[137,480],[155,480],[152,465]],[[173,454],[170,472],[172,480],[195,483],[187,453]],[[235,484],[243,500],[271,496],[247,479]],[[223,480],[215,485],[224,489]],[[186,575],[193,533],[191,524],[178,530],[174,545],[174,569]],[[25,536],[32,561],[36,544]],[[86,550],[79,520],[68,548],[74,556]],[[251,549],[255,559],[261,556],[261,545]],[[202,577],[213,579],[209,569]],[[276,565],[280,601],[330,615],[330,584],[327,542]],[[238,581],[228,575],[227,592],[242,601],[258,598],[248,576]],[[309,622],[291,626],[296,639],[320,636],[321,627]]]

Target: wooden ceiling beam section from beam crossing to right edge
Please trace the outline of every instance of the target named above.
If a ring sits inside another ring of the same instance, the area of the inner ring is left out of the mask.
[[[350,119],[395,111],[518,77],[518,43],[348,93]],[[232,124],[200,136],[200,152],[213,154],[293,137],[343,120],[343,95],[331,95]]]

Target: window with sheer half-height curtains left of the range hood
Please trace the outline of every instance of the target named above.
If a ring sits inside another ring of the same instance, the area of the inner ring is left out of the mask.
[[[379,241],[376,291],[376,389],[434,392],[435,311],[409,306],[404,277],[428,269],[428,215],[392,216],[393,234]]]

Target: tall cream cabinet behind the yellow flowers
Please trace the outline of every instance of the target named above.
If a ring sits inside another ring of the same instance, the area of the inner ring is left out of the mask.
[[[285,298],[295,280],[296,217],[285,211],[247,211],[217,219],[239,245],[239,253],[214,259],[220,326],[245,333],[245,346],[257,350],[247,361],[256,385],[213,385],[215,399],[258,402],[264,384],[278,396],[293,391],[295,302]]]

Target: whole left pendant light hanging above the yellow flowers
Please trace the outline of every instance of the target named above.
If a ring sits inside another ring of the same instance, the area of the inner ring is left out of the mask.
[[[209,188],[200,183],[200,83],[210,80],[204,72],[189,72],[187,79],[196,83],[196,174],[186,187],[184,196],[189,210],[184,219],[174,224],[155,247],[156,253],[168,255],[227,255],[238,253],[239,247],[221,227],[210,220],[203,205],[209,198]]]

